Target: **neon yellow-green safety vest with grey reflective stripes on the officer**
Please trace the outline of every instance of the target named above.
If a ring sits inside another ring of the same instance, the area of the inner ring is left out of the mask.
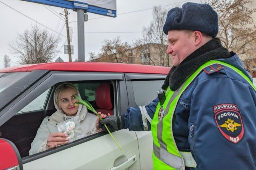
[[[200,66],[175,92],[171,91],[168,87],[166,91],[166,101],[162,106],[160,106],[158,102],[154,118],[151,122],[151,130],[154,142],[152,153],[154,169],[185,169],[185,166],[196,167],[196,162],[192,156],[186,156],[188,155],[187,153],[184,154],[178,151],[172,133],[172,119],[178,100],[184,90],[204,68],[212,64],[221,64],[232,68],[242,77],[244,77],[256,90],[250,79],[244,73],[242,73],[234,66],[216,60],[208,61]],[[161,113],[161,107],[163,107],[163,113]],[[160,119],[158,119],[159,117]],[[183,159],[186,160],[184,161]],[[186,164],[184,162],[186,162]]]

